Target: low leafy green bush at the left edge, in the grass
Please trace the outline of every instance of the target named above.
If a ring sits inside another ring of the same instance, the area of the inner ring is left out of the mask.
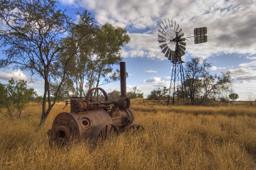
[[[0,84],[1,113],[10,119],[20,118],[29,101],[36,96],[33,88],[27,89],[27,81],[14,81]],[[3,112],[2,108],[6,108]]]

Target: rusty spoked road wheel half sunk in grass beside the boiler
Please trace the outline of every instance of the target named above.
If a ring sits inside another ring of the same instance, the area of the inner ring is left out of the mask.
[[[104,141],[109,139],[110,137],[118,134],[119,131],[117,129],[117,127],[113,124],[107,124],[104,125],[103,128],[100,130],[100,132],[97,135],[97,141]]]

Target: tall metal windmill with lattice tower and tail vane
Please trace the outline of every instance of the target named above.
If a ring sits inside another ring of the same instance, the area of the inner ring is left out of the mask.
[[[179,105],[179,98],[181,98],[181,104],[185,105],[188,103],[187,89],[185,85],[184,71],[181,59],[185,55],[186,50],[186,38],[194,37],[194,43],[199,44],[207,42],[207,28],[195,28],[194,36],[184,36],[182,29],[176,21],[170,21],[169,19],[164,19],[160,24],[158,29],[158,42],[162,53],[173,63],[172,66],[172,77],[171,84],[169,88],[169,95],[167,106],[170,102],[170,93],[172,92],[172,105],[174,105],[174,97],[177,96],[177,104]]]

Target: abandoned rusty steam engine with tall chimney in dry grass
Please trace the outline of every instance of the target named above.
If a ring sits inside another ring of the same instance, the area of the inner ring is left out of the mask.
[[[96,142],[127,128],[143,129],[140,125],[131,125],[134,114],[126,96],[125,62],[120,62],[120,82],[121,97],[117,101],[108,101],[107,93],[99,87],[89,90],[85,97],[73,97],[70,112],[61,112],[55,117],[48,131],[50,143],[66,144],[73,139]]]

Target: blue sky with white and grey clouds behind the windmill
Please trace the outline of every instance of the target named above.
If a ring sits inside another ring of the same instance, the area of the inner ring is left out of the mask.
[[[60,0],[57,6],[66,9],[66,14],[74,19],[76,11],[88,10],[100,24],[109,22],[126,28],[131,36],[130,43],[122,50],[129,74],[127,91],[137,85],[147,97],[150,91],[170,85],[172,63],[161,53],[157,42],[159,24],[169,18],[179,23],[185,35],[193,35],[196,27],[208,28],[208,42],[195,45],[190,39],[183,61],[193,56],[207,58],[213,66],[210,73],[231,72],[238,100],[248,100],[249,96],[256,99],[255,0]],[[3,27],[0,22],[0,29]],[[29,80],[28,76],[19,70],[0,70],[3,83],[11,77]],[[43,93],[42,78],[34,76],[33,81],[28,86]],[[102,87],[106,91],[119,90],[120,82]]]

